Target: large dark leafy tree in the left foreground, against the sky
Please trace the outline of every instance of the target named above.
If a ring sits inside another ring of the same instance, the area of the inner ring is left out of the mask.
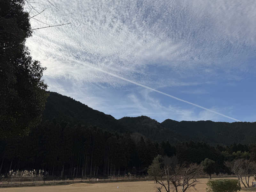
[[[0,132],[22,137],[40,121],[47,98],[39,61],[32,60],[26,39],[32,36],[24,0],[0,2]]]

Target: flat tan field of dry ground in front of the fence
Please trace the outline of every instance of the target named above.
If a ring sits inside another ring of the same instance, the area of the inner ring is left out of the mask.
[[[220,178],[218,178],[220,179]],[[232,178],[234,179],[234,178]],[[196,184],[197,192],[205,192],[206,182],[208,179],[199,179]],[[119,188],[117,188],[119,187]],[[156,192],[156,184],[153,181],[136,181],[136,182],[116,182],[116,183],[75,183],[71,185],[43,186],[43,187],[19,187],[19,188],[0,188],[0,192]],[[194,189],[188,190],[193,192]],[[242,190],[243,188],[242,188]],[[255,191],[255,190],[253,190]],[[246,192],[249,192],[247,190]]]

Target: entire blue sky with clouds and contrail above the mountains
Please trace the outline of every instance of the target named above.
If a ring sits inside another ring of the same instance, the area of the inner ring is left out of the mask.
[[[31,28],[71,22],[26,43],[49,91],[116,119],[256,121],[255,0],[33,5]]]

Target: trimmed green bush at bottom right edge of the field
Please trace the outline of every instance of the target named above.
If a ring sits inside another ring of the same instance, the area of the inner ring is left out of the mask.
[[[241,190],[240,183],[236,179],[209,180],[206,192],[237,192]]]

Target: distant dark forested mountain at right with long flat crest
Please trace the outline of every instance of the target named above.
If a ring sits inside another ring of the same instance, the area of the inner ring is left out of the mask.
[[[255,143],[256,122],[213,122],[213,121],[173,121],[161,123],[166,129],[182,135],[182,140],[200,140],[209,144]]]

